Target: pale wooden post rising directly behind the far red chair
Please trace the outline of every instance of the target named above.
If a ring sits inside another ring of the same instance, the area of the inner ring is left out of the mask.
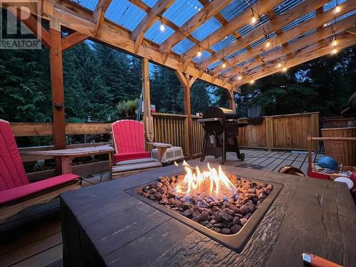
[[[153,118],[151,115],[151,95],[150,95],[150,71],[148,69],[148,59],[142,58],[142,88],[143,88],[143,123],[147,140],[153,141],[155,132],[153,130]]]

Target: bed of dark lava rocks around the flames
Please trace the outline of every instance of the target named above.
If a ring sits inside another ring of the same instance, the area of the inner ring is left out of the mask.
[[[180,174],[177,177],[159,177],[157,183],[138,188],[137,194],[216,233],[236,234],[271,193],[273,185],[251,182],[234,174],[226,176],[234,184],[236,191],[221,190],[218,196],[211,196],[206,194],[208,190],[205,187],[201,192],[189,196],[177,193],[175,187],[184,179],[184,174]]]

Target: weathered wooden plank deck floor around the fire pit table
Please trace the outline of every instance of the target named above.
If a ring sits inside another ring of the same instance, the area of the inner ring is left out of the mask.
[[[286,164],[293,165],[306,173],[307,154],[292,152],[268,152],[266,150],[242,150],[246,159],[240,162],[229,153],[226,164],[278,172]],[[320,157],[323,155],[318,155]],[[317,158],[313,155],[313,159]],[[199,159],[194,159],[199,160]],[[219,163],[220,159],[206,157],[206,162]],[[191,162],[194,164],[194,161]],[[90,182],[99,182],[96,174]],[[120,178],[119,178],[120,179]],[[90,183],[86,182],[86,186]],[[36,206],[17,214],[0,226],[0,266],[63,266],[60,207],[58,199],[46,205]]]

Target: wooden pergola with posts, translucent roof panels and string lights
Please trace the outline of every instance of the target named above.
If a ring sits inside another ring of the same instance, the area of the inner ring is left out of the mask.
[[[234,1],[199,0],[203,7],[182,26],[177,26],[164,16],[174,0],[158,0],[152,7],[141,0],[129,1],[146,13],[133,31],[105,18],[111,2],[115,2],[112,0],[99,0],[93,11],[73,1],[39,0],[39,13],[37,6],[28,4],[28,10],[32,14],[28,19],[22,19],[18,9],[8,7],[50,50],[53,139],[56,149],[66,147],[62,54],[85,39],[105,43],[142,58],[147,136],[152,135],[149,127],[152,120],[149,61],[171,68],[177,73],[184,86],[188,135],[192,135],[190,88],[197,78],[226,89],[230,108],[234,109],[233,94],[239,93],[239,85],[356,43],[354,0],[347,0],[337,6],[330,4],[330,9],[325,7],[328,0],[295,1],[298,3],[291,6],[288,6],[288,1],[282,0],[258,0],[254,4],[245,1],[247,6],[241,8],[238,16],[229,19],[224,17],[223,11]],[[287,7],[283,7],[283,4]],[[308,17],[308,14],[312,15]],[[255,26],[251,26],[252,17],[256,17]],[[43,28],[38,18],[49,21],[49,31]],[[221,26],[205,38],[195,38],[194,31],[212,18],[219,21]],[[160,44],[145,38],[145,33],[157,21],[174,31]],[[241,28],[248,26],[251,26],[248,31],[240,33]],[[63,36],[63,29],[70,29],[73,33]],[[221,49],[216,48],[216,43],[226,38],[234,40]],[[192,47],[181,54],[174,52],[174,46],[185,39],[193,43]],[[334,46],[333,41],[336,41]],[[208,56],[199,60],[202,52],[207,52]],[[192,138],[188,140],[192,142]],[[189,155],[192,155],[191,143]]]

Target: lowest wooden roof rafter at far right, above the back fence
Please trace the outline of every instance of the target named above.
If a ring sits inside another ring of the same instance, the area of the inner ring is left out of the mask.
[[[313,43],[310,46],[300,48],[298,51],[294,51],[288,56],[285,56],[285,58],[282,59],[283,61],[286,61],[286,68],[291,68],[301,63],[319,58],[320,56],[330,54],[333,50],[333,48],[330,47],[332,40],[333,37],[325,38],[323,41],[319,41],[317,43]],[[338,46],[338,49],[347,48],[348,46],[355,45],[356,36],[353,36],[347,32],[342,32],[337,34],[337,40],[340,41],[340,46]],[[233,83],[233,86],[243,85],[251,81],[251,79],[257,80],[273,73],[278,73],[281,71],[281,69],[276,68],[276,63],[277,62],[269,62],[263,66],[253,69],[248,77],[244,77],[242,80],[236,80],[236,82]]]

